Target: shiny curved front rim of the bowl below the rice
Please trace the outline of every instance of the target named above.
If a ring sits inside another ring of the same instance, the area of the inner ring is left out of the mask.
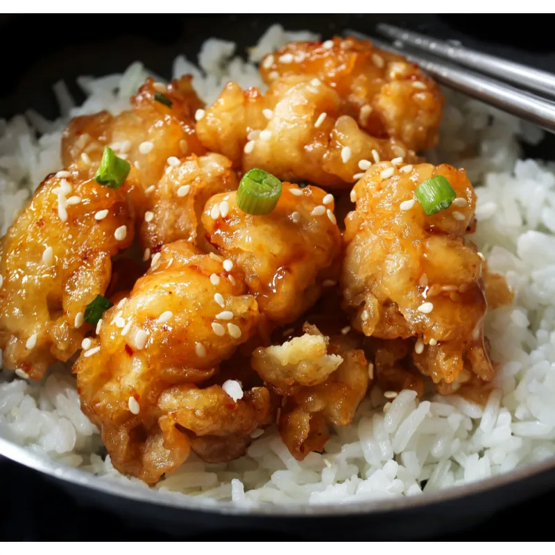
[[[100,477],[71,466],[58,463],[51,459],[44,459],[26,447],[17,445],[0,437],[0,456],[27,468],[37,470],[44,475],[65,481],[75,486],[83,486],[98,493],[105,493],[116,497],[123,497],[128,501],[138,501],[146,504],[164,506],[169,509],[201,511],[219,515],[236,515],[249,517],[341,517],[348,515],[364,515],[373,513],[395,513],[408,509],[418,509],[422,506],[438,505],[443,502],[471,497],[493,489],[515,484],[527,478],[541,475],[555,469],[555,456],[549,456],[543,461],[531,463],[527,466],[515,468],[509,472],[494,477],[472,481],[422,495],[399,496],[391,499],[366,499],[353,502],[338,502],[327,504],[268,504],[260,502],[233,503],[187,495],[179,492],[160,491],[138,486],[131,482],[125,483],[117,479]],[[510,504],[510,499],[507,499]]]

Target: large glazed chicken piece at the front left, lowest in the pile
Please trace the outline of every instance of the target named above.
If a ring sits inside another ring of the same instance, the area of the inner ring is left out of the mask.
[[[187,459],[192,440],[205,438],[193,442],[202,454],[212,436],[244,443],[272,421],[266,388],[235,402],[221,385],[198,385],[255,332],[257,302],[245,293],[240,271],[224,273],[217,258],[176,241],[129,298],[103,314],[99,339],[74,371],[81,407],[120,472],[154,483]]]

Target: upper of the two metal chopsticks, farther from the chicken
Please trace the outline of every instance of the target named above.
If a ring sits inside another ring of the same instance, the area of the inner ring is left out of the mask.
[[[486,75],[555,97],[555,75],[547,71],[491,56],[460,44],[450,44],[421,33],[406,31],[393,25],[378,24],[377,31],[381,35],[400,40],[404,44],[434,54],[438,58],[449,58],[453,62],[476,69]]]

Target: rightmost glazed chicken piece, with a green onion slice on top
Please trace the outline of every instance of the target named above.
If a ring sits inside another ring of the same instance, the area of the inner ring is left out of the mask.
[[[416,187],[433,176],[445,176],[460,200],[427,216],[412,199]],[[482,260],[463,237],[475,209],[466,173],[445,164],[401,170],[375,164],[355,194],[357,208],[345,221],[341,276],[352,325],[382,339],[420,338],[414,364],[436,384],[452,383],[465,365],[493,379],[482,334]]]

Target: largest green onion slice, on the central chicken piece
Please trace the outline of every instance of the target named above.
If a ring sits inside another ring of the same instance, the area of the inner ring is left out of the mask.
[[[253,216],[270,214],[281,194],[282,182],[278,178],[263,169],[253,168],[239,183],[237,206]]]

